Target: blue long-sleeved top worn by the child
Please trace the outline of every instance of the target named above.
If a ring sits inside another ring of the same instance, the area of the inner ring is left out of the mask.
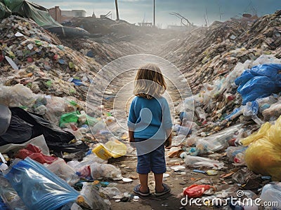
[[[169,104],[164,97],[133,99],[128,127],[134,138],[166,139],[166,130],[172,126]]]

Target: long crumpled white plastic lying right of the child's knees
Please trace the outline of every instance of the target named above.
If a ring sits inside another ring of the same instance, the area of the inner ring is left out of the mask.
[[[214,169],[222,169],[224,167],[223,162],[217,160],[211,160],[209,158],[202,158],[197,156],[190,156],[187,153],[181,153],[181,158],[185,161],[188,167],[209,167]]]

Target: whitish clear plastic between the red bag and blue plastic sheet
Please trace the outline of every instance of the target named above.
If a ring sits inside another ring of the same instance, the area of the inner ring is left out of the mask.
[[[65,160],[61,158],[58,158],[58,160],[55,160],[55,162],[50,165],[46,165],[46,168],[60,177],[60,179],[66,181],[70,186],[74,186],[74,184],[80,180],[75,170],[67,165]]]

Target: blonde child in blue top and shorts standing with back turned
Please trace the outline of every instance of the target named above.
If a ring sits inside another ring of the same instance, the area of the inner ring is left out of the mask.
[[[169,186],[163,183],[166,172],[165,151],[171,148],[171,114],[164,97],[166,83],[161,70],[155,64],[146,64],[138,69],[135,78],[133,102],[129,111],[129,141],[135,142],[138,155],[136,172],[140,179],[133,192],[150,195],[148,173],[155,176],[155,196],[170,192]]]

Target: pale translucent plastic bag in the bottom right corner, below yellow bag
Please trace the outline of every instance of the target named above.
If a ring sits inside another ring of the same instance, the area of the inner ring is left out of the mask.
[[[270,182],[263,186],[261,190],[261,200],[263,202],[277,202],[276,209],[281,207],[281,183],[280,182]]]

